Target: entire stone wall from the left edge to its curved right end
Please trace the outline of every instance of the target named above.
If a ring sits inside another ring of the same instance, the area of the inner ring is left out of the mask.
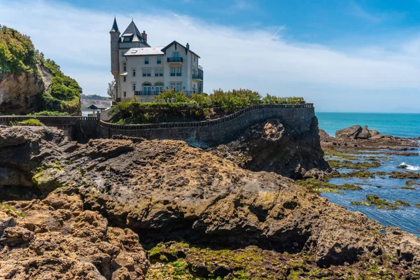
[[[146,139],[174,139],[186,141],[190,146],[210,147],[226,143],[257,123],[276,118],[294,134],[310,129],[315,117],[314,104],[280,105],[260,104],[216,120],[183,123],[156,123],[144,125],[116,125],[97,117],[73,116],[0,116],[0,125],[10,121],[36,118],[41,123],[64,130],[73,140],[111,138],[113,135],[143,137]]]

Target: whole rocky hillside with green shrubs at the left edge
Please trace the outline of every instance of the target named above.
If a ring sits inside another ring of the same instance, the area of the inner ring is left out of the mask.
[[[82,89],[29,36],[0,25],[0,114],[62,111],[80,115]]]

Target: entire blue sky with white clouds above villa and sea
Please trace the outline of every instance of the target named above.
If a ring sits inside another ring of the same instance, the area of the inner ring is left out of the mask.
[[[0,24],[105,94],[113,16],[151,45],[189,42],[204,90],[303,96],[318,111],[420,113],[420,1],[0,0]],[[281,28],[283,27],[283,28]],[[280,29],[280,30],[279,30]]]

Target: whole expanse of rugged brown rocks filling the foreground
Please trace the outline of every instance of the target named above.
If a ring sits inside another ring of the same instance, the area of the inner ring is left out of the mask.
[[[0,158],[0,279],[420,277],[418,237],[218,151],[1,127]]]

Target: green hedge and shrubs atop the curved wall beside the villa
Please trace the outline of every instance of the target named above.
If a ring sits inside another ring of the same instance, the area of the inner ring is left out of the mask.
[[[193,94],[164,90],[155,102],[120,102],[113,107],[113,122],[120,124],[163,123],[220,118],[256,104],[305,104],[302,97],[261,97],[252,90],[215,90]]]

